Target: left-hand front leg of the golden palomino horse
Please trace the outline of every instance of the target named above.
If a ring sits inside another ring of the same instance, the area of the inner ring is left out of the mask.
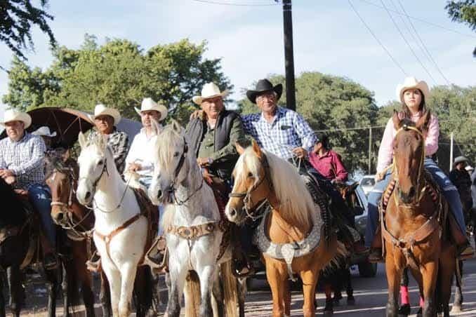
[[[266,259],[266,278],[270,283],[271,295],[272,295],[272,316],[283,317],[284,316],[284,283],[287,283],[287,269],[280,268],[281,264],[272,264],[273,259]],[[281,272],[283,273],[281,273]]]

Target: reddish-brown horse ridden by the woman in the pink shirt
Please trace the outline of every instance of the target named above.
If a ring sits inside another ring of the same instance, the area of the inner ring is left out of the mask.
[[[439,309],[449,316],[456,250],[447,236],[442,236],[446,233],[439,224],[440,220],[445,227],[448,205],[423,169],[422,129],[427,116],[429,112],[416,124],[408,119],[401,121],[397,113],[393,116],[398,129],[393,148],[395,189],[390,196],[389,191],[384,194],[388,203],[385,216],[381,216],[388,280],[387,316],[397,316],[400,278],[405,267],[415,277],[425,301],[423,316],[435,316]]]

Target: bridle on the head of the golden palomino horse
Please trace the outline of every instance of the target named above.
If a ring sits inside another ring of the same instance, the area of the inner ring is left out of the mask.
[[[242,198],[243,199],[243,209],[246,212],[246,217],[250,218],[251,220],[255,221],[263,217],[264,213],[259,213],[257,215],[257,212],[261,210],[261,207],[267,203],[267,197],[269,196],[271,189],[272,189],[272,182],[270,178],[270,165],[267,162],[267,158],[265,154],[263,154],[262,159],[261,159],[261,164],[263,166],[263,169],[265,170],[265,176],[261,177],[258,182],[255,182],[253,186],[248,190],[248,191],[235,191],[231,192],[228,197],[230,198]],[[268,192],[265,195],[265,198],[263,200],[258,201],[256,203],[256,207],[251,207],[253,206],[253,200],[251,199],[251,194],[253,191],[256,191],[261,184],[263,184],[264,181],[267,181],[268,184]]]

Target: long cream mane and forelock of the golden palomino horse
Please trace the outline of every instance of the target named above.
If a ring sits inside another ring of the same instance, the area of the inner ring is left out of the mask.
[[[305,224],[312,223],[312,215],[316,213],[317,206],[312,200],[303,178],[288,161],[284,161],[271,152],[263,149],[262,151],[270,166],[272,186],[280,203],[277,208],[279,214],[296,224],[296,227],[303,227]],[[244,155],[240,156],[237,168],[243,164],[246,164],[246,167],[255,177],[259,175],[262,163],[252,147],[248,147],[244,151]],[[246,177],[246,175],[242,173],[242,177]],[[256,182],[258,182],[258,177],[256,177]]]

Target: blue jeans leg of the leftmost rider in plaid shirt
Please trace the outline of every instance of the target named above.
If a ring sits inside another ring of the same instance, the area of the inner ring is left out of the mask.
[[[51,194],[50,189],[43,184],[31,184],[27,187],[29,201],[40,215],[44,233],[51,247],[56,246],[56,227],[51,218]]]

